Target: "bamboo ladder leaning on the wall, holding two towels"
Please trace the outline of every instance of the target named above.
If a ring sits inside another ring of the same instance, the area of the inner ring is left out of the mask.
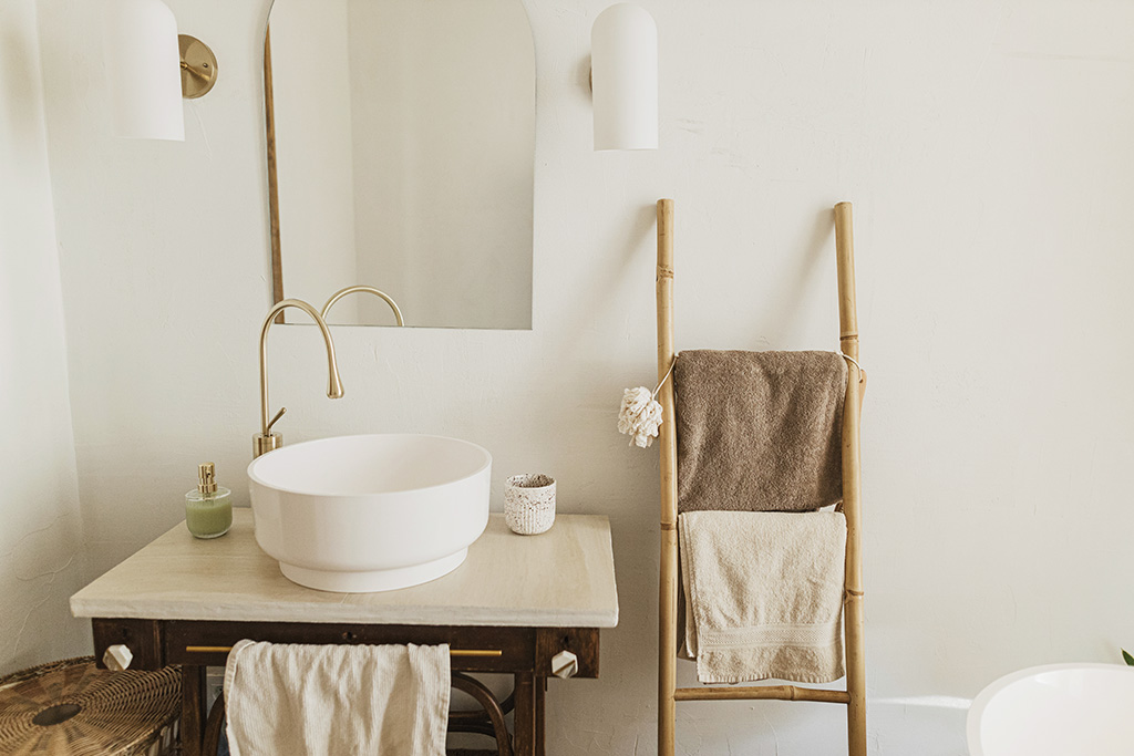
[[[862,484],[858,421],[865,373],[857,365],[858,316],[855,307],[854,239],[850,203],[835,205],[835,248],[838,264],[839,345],[847,360],[843,405],[843,513],[847,520],[843,632],[846,646],[846,690],[816,690],[792,685],[677,687],[677,427],[674,382],[665,381],[661,449],[661,574],[659,580],[658,754],[674,756],[676,704],[679,700],[751,700],[776,698],[845,704],[849,756],[866,756],[866,664],[863,654],[863,589],[861,550]],[[672,365],[674,351],[674,201],[658,201],[658,381]],[[854,360],[854,362],[852,362]]]

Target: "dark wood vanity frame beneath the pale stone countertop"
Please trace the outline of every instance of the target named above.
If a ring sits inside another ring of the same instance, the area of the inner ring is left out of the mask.
[[[505,756],[542,756],[543,707],[551,657],[560,651],[578,656],[575,677],[599,676],[598,628],[341,625],[318,622],[235,622],[222,620],[92,620],[95,659],[109,646],[127,645],[130,669],[155,670],[179,664],[183,674],[181,747],[185,756],[212,756],[220,736],[220,706],[206,722],[205,668],[223,666],[227,649],[243,638],[303,644],[449,644],[452,649],[499,651],[492,656],[454,656],[454,687],[472,695],[484,712],[454,713],[450,732],[476,732],[497,739],[496,750],[462,751]],[[511,674],[515,690],[499,702],[466,672]],[[501,733],[503,715],[515,708],[514,733]],[[208,725],[208,727],[206,727]],[[211,750],[210,750],[211,749]]]

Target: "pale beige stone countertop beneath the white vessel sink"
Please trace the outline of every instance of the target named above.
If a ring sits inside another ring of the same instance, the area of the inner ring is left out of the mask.
[[[613,627],[618,623],[610,521],[559,515],[535,536],[491,515],[468,559],[442,578],[400,591],[324,593],[280,575],[256,545],[252,510],[212,541],[181,523],[71,596],[76,617],[160,620]]]

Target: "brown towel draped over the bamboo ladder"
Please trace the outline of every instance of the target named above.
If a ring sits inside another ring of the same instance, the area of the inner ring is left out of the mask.
[[[847,366],[832,351],[683,351],[678,511],[811,511],[843,499]]]

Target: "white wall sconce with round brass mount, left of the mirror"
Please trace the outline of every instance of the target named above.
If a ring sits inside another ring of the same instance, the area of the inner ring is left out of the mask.
[[[217,83],[217,58],[204,42],[178,35],[161,0],[104,0],[103,53],[117,136],[185,141],[181,99]]]

